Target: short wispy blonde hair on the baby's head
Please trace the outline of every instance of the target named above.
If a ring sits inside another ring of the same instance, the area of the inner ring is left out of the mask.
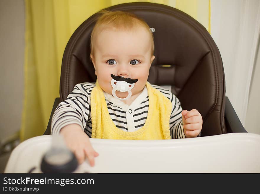
[[[151,44],[151,53],[153,55],[154,52],[154,41],[153,41],[153,34],[150,30],[148,24],[141,18],[137,17],[134,14],[128,12],[111,12],[107,10],[100,11],[100,17],[98,18],[90,38],[90,47],[91,52],[90,54],[94,54],[94,42],[98,36],[98,34],[102,31],[107,29],[108,27],[115,27],[117,30],[124,30],[124,31],[134,31],[136,27],[144,27],[150,36],[150,44]]]

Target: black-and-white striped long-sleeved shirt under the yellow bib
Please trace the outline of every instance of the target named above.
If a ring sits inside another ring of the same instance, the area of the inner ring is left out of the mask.
[[[180,101],[168,89],[157,85],[151,86],[159,90],[172,102],[172,111],[169,120],[171,138],[185,138]],[[59,133],[61,128],[68,124],[78,124],[91,137],[90,96],[94,87],[95,84],[88,82],[77,84],[67,99],[57,106],[51,123],[53,134]],[[104,92],[104,96],[109,115],[117,128],[127,132],[137,131],[142,128],[146,121],[149,108],[149,97],[146,87],[144,87],[141,94],[139,94],[131,105],[125,104],[106,92]]]

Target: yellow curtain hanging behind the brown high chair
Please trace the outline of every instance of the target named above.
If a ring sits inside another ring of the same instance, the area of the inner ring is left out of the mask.
[[[92,14],[135,0],[25,0],[25,91],[21,141],[42,135],[59,97],[63,52],[70,36]],[[146,0],[175,7],[210,31],[210,0]]]

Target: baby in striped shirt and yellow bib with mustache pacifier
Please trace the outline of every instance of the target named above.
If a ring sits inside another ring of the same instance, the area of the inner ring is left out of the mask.
[[[61,133],[79,163],[94,166],[89,138],[174,139],[197,137],[198,110],[182,110],[167,89],[147,82],[154,42],[150,27],[126,12],[102,12],[91,34],[97,81],[77,84],[55,110],[52,133]]]

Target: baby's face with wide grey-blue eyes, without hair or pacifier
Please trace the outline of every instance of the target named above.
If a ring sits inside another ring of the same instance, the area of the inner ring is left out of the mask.
[[[111,74],[124,78],[138,79],[132,96],[142,92],[154,56],[148,32],[138,28],[136,32],[116,31],[113,28],[103,30],[94,45],[91,56],[100,87],[112,94]],[[128,92],[116,91],[116,95],[125,98]]]

